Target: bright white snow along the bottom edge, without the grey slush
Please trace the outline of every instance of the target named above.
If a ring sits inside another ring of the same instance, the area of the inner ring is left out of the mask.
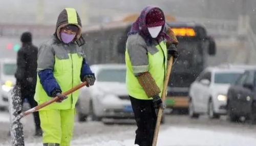
[[[120,134],[120,133],[117,133]],[[134,137],[131,139],[108,139],[105,136],[79,138],[72,141],[75,146],[133,146]],[[120,137],[120,136],[117,136]],[[196,128],[169,127],[160,131],[158,146],[254,146],[256,137],[243,136],[242,133],[224,131],[210,131]],[[26,146],[39,146],[41,143],[27,143]]]

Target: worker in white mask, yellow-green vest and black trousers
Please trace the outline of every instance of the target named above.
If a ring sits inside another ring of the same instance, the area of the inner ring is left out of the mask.
[[[163,11],[154,6],[142,10],[128,33],[125,50],[126,88],[137,123],[135,144],[151,146],[170,56],[178,57],[178,40],[166,25]]]

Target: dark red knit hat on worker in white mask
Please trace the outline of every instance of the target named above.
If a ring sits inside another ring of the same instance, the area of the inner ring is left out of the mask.
[[[153,9],[146,15],[146,27],[159,27],[164,25],[164,14],[159,9]]]

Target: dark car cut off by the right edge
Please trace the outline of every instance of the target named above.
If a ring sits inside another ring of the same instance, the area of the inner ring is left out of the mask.
[[[246,70],[227,93],[227,116],[231,122],[240,117],[256,123],[256,69]]]

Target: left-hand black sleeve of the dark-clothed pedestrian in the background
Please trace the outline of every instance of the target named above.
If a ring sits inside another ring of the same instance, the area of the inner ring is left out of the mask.
[[[25,80],[25,72],[26,72],[26,53],[23,49],[20,49],[17,53],[17,70],[15,72],[15,78],[17,81]]]

